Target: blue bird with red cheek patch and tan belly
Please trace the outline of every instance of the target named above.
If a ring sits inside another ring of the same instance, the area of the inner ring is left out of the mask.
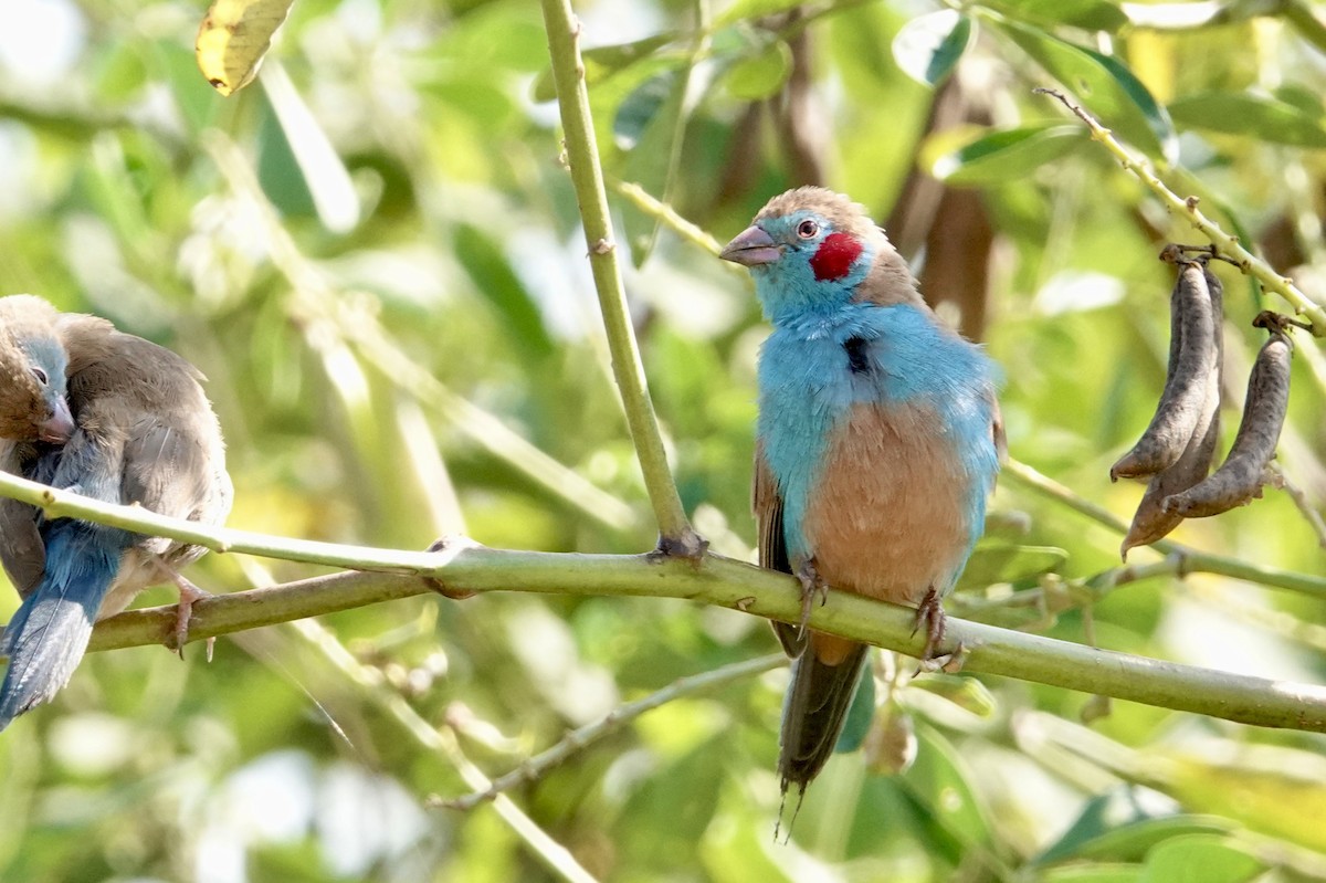
[[[760,565],[802,583],[784,703],[782,793],[819,773],[866,646],[806,631],[826,586],[916,607],[924,655],[977,537],[1002,445],[994,369],[922,300],[866,211],[819,187],[776,196],[728,243],[773,333],[760,351],[754,514]]]

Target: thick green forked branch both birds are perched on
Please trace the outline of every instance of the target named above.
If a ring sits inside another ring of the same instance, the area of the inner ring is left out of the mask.
[[[244,552],[387,573],[349,573],[206,598],[194,606],[190,640],[316,617],[435,589],[463,598],[484,591],[533,591],[562,595],[683,598],[744,613],[798,622],[801,587],[788,575],[720,556],[699,559],[668,556],[589,556],[487,549],[468,541],[442,552],[392,552],[330,542],[285,540],[224,528],[206,529],[138,506],[115,506],[53,491],[0,473],[0,495],[42,506],[52,516],[77,516],[103,524],[199,542],[216,552]],[[390,574],[407,575],[390,575]],[[412,575],[408,575],[412,574]],[[432,577],[436,582],[422,577]],[[1326,593],[1326,579],[1299,577],[1302,589]],[[93,648],[164,643],[172,607],[121,614],[97,627]],[[914,632],[915,611],[846,593],[815,607],[810,626],[908,655],[919,655],[924,635]],[[1176,711],[1212,715],[1261,727],[1326,732],[1326,687],[1272,681],[1192,666],[1093,650],[951,618],[948,644],[969,648],[968,671],[1005,675],[1053,687],[1140,701]]]

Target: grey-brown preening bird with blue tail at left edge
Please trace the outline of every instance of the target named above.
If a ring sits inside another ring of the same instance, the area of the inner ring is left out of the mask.
[[[202,374],[101,318],[0,297],[0,468],[54,488],[203,524],[231,508],[220,426]],[[160,582],[180,587],[176,643],[204,549],[0,501],[0,562],[23,597],[4,630],[0,729],[73,675],[97,619]]]

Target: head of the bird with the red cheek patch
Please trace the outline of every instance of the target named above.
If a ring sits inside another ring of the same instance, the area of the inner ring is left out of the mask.
[[[720,257],[751,268],[774,324],[847,302],[920,305],[916,282],[866,209],[823,187],[774,196]]]

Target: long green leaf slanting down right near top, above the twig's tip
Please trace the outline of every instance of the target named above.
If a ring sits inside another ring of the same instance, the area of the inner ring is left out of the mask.
[[[1105,126],[1148,155],[1174,162],[1177,141],[1170,114],[1123,64],[1036,28],[1013,21],[1000,27]]]

